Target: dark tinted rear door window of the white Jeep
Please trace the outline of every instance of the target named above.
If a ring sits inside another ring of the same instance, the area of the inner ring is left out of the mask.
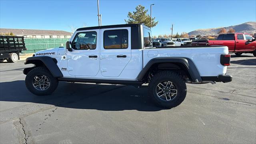
[[[104,49],[128,48],[128,30],[105,30]]]

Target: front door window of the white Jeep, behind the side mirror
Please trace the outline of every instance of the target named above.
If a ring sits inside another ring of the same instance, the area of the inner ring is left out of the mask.
[[[72,42],[75,50],[94,50],[96,49],[97,32],[80,32],[76,34]]]

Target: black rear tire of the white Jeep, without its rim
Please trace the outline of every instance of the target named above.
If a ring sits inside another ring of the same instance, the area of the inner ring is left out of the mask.
[[[177,89],[177,95],[174,99],[170,101],[162,100],[158,97],[156,88],[158,84],[162,81],[170,81],[175,85]],[[160,107],[163,108],[174,108],[180,105],[186,97],[187,87],[184,79],[176,72],[172,71],[162,71],[158,72],[153,76],[148,85],[148,95],[151,100]]]

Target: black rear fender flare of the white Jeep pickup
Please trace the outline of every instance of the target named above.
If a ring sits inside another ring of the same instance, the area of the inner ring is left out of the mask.
[[[148,64],[146,64],[146,66],[140,72],[140,74],[138,75],[138,80],[141,81],[143,79],[143,77],[145,76],[145,74],[148,72],[148,70],[150,69],[150,67],[153,64],[163,63],[163,62],[171,62],[171,63],[180,63],[180,64],[182,64],[186,68],[188,73],[190,74],[192,82],[202,82],[202,78],[201,78],[194,62],[192,62],[192,60],[190,60],[189,58],[181,58],[181,57],[153,58],[152,60],[150,60],[148,62]]]

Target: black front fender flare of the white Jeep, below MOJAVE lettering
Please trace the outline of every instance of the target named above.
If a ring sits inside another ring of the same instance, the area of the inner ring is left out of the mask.
[[[43,64],[48,70],[51,72],[52,76],[55,78],[63,77],[62,72],[58,68],[57,64],[54,62],[54,60],[49,56],[33,56],[29,57],[25,60],[24,64],[34,64],[37,66],[37,64]],[[32,68],[25,68],[23,70],[24,74],[28,74],[28,72],[32,70]]]

